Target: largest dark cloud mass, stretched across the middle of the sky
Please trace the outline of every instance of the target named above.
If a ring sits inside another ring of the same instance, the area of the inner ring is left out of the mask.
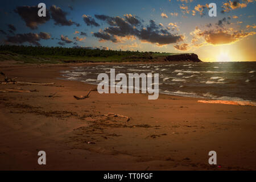
[[[99,38],[100,41],[110,40],[116,43],[120,42],[122,38],[136,36],[144,42],[156,43],[161,46],[183,40],[182,35],[171,34],[168,30],[159,27],[154,20],[150,20],[150,24],[147,27],[141,27],[139,26],[141,25],[141,22],[138,23],[134,20],[135,16],[133,16],[133,21],[130,22],[126,19],[126,15],[125,18],[120,18],[119,16],[110,17],[106,15],[95,15],[95,17],[106,21],[106,23],[110,25],[110,27],[93,34],[96,38]],[[131,18],[131,16],[129,17]],[[135,26],[134,23],[137,24],[137,26]]]

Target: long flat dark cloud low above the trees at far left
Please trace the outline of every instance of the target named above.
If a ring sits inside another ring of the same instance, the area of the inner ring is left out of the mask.
[[[40,32],[39,34],[35,33],[27,33],[27,34],[16,34],[15,36],[7,36],[5,40],[6,44],[13,43],[13,44],[22,44],[28,42],[35,46],[41,46],[39,41],[41,39],[50,39],[51,36],[46,32]]]

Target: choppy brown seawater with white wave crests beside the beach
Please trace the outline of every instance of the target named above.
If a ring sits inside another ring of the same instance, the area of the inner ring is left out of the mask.
[[[98,74],[110,74],[110,68],[115,68],[115,75],[159,73],[159,93],[163,94],[256,101],[256,62],[86,65],[61,73],[67,80],[98,84]]]

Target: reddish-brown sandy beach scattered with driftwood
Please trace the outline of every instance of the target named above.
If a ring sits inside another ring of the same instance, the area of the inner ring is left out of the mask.
[[[1,170],[256,169],[255,106],[99,94],[97,85],[64,80],[60,71],[74,66],[0,67],[17,81],[55,82],[0,85],[31,90],[0,93]],[[89,98],[73,97],[90,89]],[[38,151],[46,151],[47,165],[38,164]],[[209,165],[209,151],[216,151],[217,165]]]

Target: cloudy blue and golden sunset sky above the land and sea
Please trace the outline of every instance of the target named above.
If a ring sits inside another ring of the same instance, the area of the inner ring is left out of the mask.
[[[46,4],[46,17],[38,4]],[[208,15],[216,3],[217,16]],[[5,1],[0,44],[196,53],[256,61],[255,0]]]

